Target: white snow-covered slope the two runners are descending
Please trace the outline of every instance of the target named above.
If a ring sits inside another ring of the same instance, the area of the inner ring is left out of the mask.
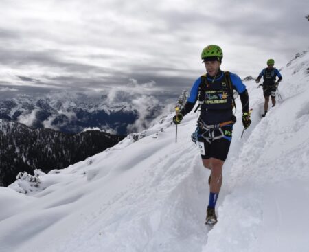
[[[209,170],[191,141],[198,113],[185,116],[177,142],[171,113],[139,141],[0,187],[0,251],[308,252],[308,62],[303,53],[282,69],[282,100],[263,119],[262,88],[246,82],[252,124],[240,138],[238,98],[213,229]]]

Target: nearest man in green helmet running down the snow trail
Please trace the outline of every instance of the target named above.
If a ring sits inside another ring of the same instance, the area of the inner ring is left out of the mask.
[[[185,106],[173,117],[174,124],[179,124],[183,117],[192,111],[198,100],[201,115],[198,118],[198,146],[205,168],[211,170],[209,176],[209,205],[205,224],[217,222],[215,206],[222,185],[222,167],[227,159],[231,144],[233,124],[233,90],[240,94],[242,102],[242,123],[244,128],[251,124],[248,92],[240,78],[220,69],[223,54],[218,45],[208,45],[202,51],[201,58],[207,73],[193,84],[190,97]],[[232,87],[233,86],[233,87]]]

